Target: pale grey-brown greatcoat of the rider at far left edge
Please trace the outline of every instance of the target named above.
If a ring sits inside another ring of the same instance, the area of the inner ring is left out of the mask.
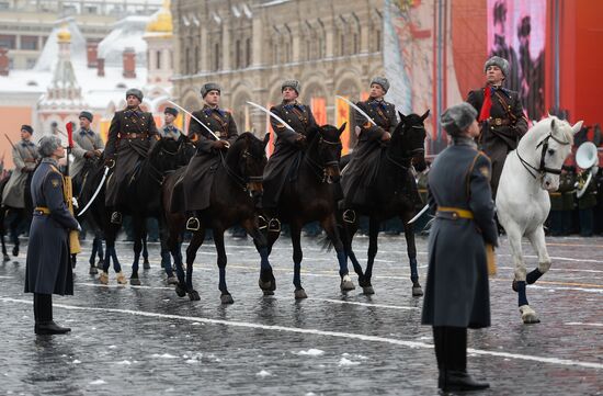
[[[37,146],[33,142],[21,140],[14,146],[12,150],[14,170],[4,185],[2,205],[15,208],[25,207],[25,184],[38,158]]]

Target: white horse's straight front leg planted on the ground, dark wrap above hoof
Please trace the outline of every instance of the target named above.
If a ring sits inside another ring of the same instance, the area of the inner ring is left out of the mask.
[[[514,224],[507,224],[504,229],[509,238],[509,246],[511,247],[511,254],[515,267],[513,290],[517,292],[517,306],[520,307],[522,320],[524,324],[537,324],[539,323],[538,316],[530,307],[525,293],[526,270],[522,252],[522,231]]]

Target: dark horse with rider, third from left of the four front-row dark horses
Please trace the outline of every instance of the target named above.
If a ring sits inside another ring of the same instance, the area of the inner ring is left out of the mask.
[[[300,276],[302,228],[304,225],[317,220],[335,247],[341,290],[354,288],[348,272],[348,260],[335,220],[338,191],[335,186],[338,185],[333,183],[338,182],[340,177],[339,160],[342,148],[340,136],[344,129],[345,124],[339,129],[332,125],[325,125],[308,133],[306,136],[308,144],[299,157],[296,177],[286,182],[278,199],[277,217],[291,227],[295,298],[307,297],[304,287],[302,287]],[[268,228],[270,252],[281,233]]]

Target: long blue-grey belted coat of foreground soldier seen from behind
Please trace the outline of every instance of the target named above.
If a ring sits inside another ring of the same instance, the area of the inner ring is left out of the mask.
[[[432,210],[458,207],[473,219],[435,217],[429,239],[423,325],[490,326],[490,292],[485,242],[497,245],[490,160],[470,140],[435,158],[429,172]]]

